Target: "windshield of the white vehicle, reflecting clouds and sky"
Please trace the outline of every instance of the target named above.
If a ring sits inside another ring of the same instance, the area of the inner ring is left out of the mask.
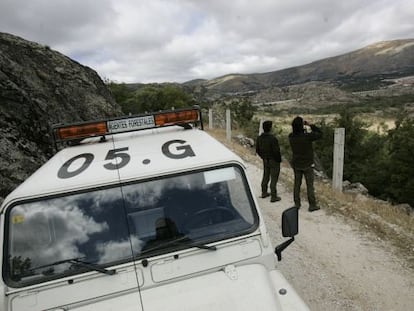
[[[14,205],[5,280],[19,287],[89,271],[79,261],[105,267],[251,232],[247,189],[231,166]]]

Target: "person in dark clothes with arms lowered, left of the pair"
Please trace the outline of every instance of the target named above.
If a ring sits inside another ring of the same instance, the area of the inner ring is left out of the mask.
[[[280,162],[282,157],[280,155],[279,142],[271,133],[272,121],[263,122],[263,133],[257,137],[256,153],[263,160],[263,177],[262,177],[262,198],[270,195],[270,202],[280,201],[277,196],[276,184],[279,179]],[[267,187],[270,180],[270,193]]]

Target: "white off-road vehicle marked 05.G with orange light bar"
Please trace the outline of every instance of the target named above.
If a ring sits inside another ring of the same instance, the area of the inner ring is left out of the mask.
[[[243,161],[200,110],[54,127],[58,151],[0,209],[0,310],[308,310]]]

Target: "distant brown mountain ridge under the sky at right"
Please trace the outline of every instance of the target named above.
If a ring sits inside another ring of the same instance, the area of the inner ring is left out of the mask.
[[[229,74],[211,80],[194,80],[184,85],[205,88],[210,94],[258,92],[309,82],[329,82],[357,88],[367,80],[380,83],[386,78],[414,75],[414,39],[384,41],[343,55],[283,70]]]

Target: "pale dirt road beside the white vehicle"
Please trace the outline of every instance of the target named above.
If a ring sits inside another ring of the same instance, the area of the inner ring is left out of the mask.
[[[248,164],[248,175],[277,245],[283,241],[281,213],[293,205],[291,189],[279,183],[282,201],[270,203],[259,198],[261,168]],[[303,199],[299,235],[283,252],[278,268],[310,309],[414,310],[414,271],[396,250],[339,215],[323,209],[309,213]]]

